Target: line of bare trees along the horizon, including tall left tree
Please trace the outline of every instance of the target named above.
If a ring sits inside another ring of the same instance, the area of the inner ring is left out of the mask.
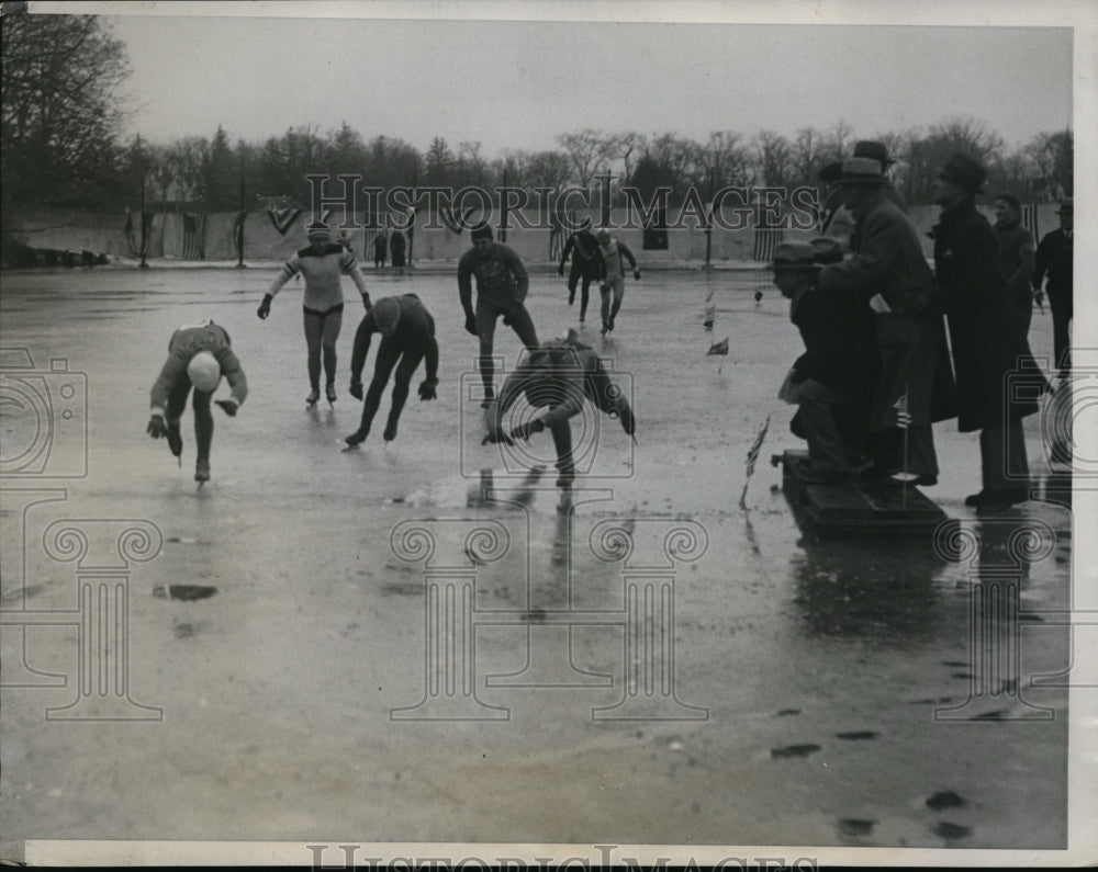
[[[480,143],[451,145],[435,137],[425,151],[403,139],[366,138],[344,122],[326,132],[291,127],[261,143],[233,143],[224,127],[212,137],[168,144],[121,140],[127,117],[122,86],[125,46],[93,16],[14,15],[3,27],[2,174],[4,204],[114,209],[146,203],[159,208],[233,211],[266,197],[304,205],[310,173],[359,175],[382,189],[396,185],[502,185],[560,190],[593,185],[609,175],[619,190],[650,195],[671,189],[681,204],[694,189],[704,200],[727,185],[793,189],[813,185],[820,168],[850,152],[856,138],[882,140],[896,163],[890,172],[909,203],[930,202],[939,169],[954,151],[989,169],[989,190],[1024,202],[1071,195],[1073,135],[1035,135],[1008,149],[982,121],[951,117],[929,129],[858,132],[843,121],[827,131],[714,131],[697,141],[675,133],[584,128],[556,137],[541,151],[506,150],[489,157]],[[618,193],[620,200],[620,193]]]

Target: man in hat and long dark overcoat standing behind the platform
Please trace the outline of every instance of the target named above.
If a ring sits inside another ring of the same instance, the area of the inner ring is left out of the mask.
[[[934,186],[942,212],[931,235],[934,299],[949,321],[956,373],[957,424],[961,432],[979,431],[983,489],[965,505],[996,510],[1028,498],[1022,418],[1038,406],[1035,398],[1011,390],[1007,381],[1030,355],[1011,318],[995,234],[976,211],[986,178],[966,155],[949,159]]]

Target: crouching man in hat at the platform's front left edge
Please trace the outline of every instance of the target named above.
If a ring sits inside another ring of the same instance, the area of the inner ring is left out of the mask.
[[[851,456],[865,429],[862,373],[872,342],[860,329],[865,303],[855,291],[825,292],[816,284],[820,263],[841,258],[833,239],[815,245],[782,242],[770,265],[774,285],[789,301],[789,320],[805,343],[781,397],[798,407],[791,429],[808,442],[810,460],[800,474],[808,484],[849,478]]]

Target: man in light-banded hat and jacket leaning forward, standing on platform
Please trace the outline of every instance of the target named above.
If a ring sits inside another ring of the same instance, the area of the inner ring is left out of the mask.
[[[881,162],[848,158],[834,184],[855,220],[852,257],[825,267],[819,286],[855,291],[872,310],[879,370],[871,387],[873,472],[898,485],[938,484],[931,424],[955,415],[940,314],[928,306],[933,275],[918,230],[884,193]]]

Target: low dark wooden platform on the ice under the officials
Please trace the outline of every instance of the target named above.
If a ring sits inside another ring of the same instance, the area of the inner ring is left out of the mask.
[[[881,480],[805,484],[798,465],[808,452],[786,451],[771,462],[782,465],[783,487],[803,530],[825,539],[930,539],[949,516],[918,488]]]

